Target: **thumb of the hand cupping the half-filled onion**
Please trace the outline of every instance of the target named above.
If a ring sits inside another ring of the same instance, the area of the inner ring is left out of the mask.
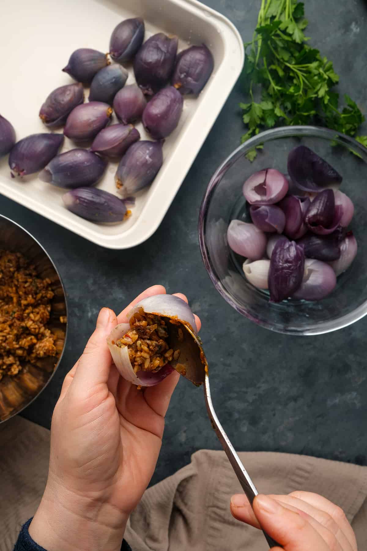
[[[76,366],[72,382],[74,390],[87,392],[98,384],[107,383],[112,358],[106,338],[116,325],[116,314],[109,308],[102,308],[98,314],[96,329]]]

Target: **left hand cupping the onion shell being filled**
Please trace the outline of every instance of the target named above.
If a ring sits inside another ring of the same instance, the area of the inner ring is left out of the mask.
[[[128,321],[136,302],[165,293],[161,285],[147,289],[118,317],[103,308],[83,355],[65,377],[52,417],[45,494],[29,528],[48,551],[120,549],[128,516],[154,473],[179,374],[138,390],[119,376],[106,337]]]

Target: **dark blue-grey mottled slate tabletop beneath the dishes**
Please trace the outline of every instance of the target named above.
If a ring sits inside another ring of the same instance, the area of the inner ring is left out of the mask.
[[[259,0],[206,0],[249,40]],[[308,0],[311,44],[330,57],[348,91],[366,111],[364,0]],[[155,235],[127,251],[102,249],[0,197],[0,212],[24,225],[50,252],[68,292],[67,349],[50,385],[24,417],[50,426],[65,373],[82,352],[101,306],[119,311],[154,283],[183,291],[201,316],[211,368],[213,403],[238,450],[302,453],[367,464],[367,317],[326,336],[271,333],[240,317],[217,294],[201,261],[197,219],[202,195],[218,163],[242,134],[237,84]],[[364,133],[366,132],[364,128]],[[228,337],[223,340],[223,328]],[[206,417],[202,389],[182,379],[167,414],[153,481],[172,474],[201,448],[220,449]]]

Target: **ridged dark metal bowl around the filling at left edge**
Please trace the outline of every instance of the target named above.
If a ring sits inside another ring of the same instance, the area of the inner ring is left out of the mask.
[[[57,356],[42,358],[36,365],[26,365],[18,375],[6,375],[0,380],[0,423],[3,423],[29,406],[51,381],[65,348],[67,323],[61,323],[60,317],[67,316],[67,304],[59,273],[45,249],[28,231],[1,214],[0,249],[20,252],[34,264],[40,278],[51,279],[54,297],[47,327],[57,337]]]

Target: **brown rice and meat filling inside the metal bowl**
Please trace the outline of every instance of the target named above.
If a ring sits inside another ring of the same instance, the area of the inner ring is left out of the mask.
[[[0,250],[0,379],[26,362],[56,356],[50,320],[50,279],[40,279],[20,253]]]

